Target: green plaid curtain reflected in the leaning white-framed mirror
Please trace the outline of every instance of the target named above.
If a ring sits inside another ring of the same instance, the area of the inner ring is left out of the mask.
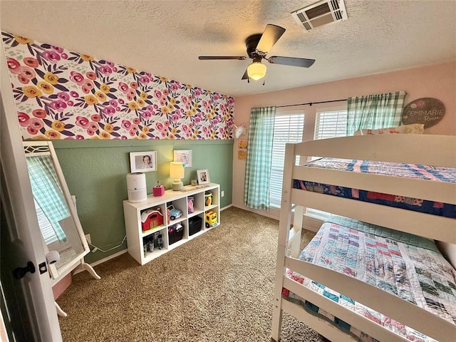
[[[36,203],[51,223],[53,231],[61,242],[66,234],[58,221],[70,216],[65,196],[60,187],[50,155],[27,157],[28,177]]]

